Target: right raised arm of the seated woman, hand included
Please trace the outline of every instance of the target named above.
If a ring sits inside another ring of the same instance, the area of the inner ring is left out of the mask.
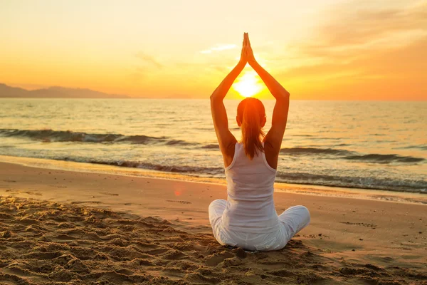
[[[247,36],[247,53],[248,63],[252,66],[253,70],[258,73],[260,78],[264,81],[270,93],[276,99],[273,110],[273,119],[271,128],[265,136],[265,142],[268,143],[275,153],[279,154],[282,145],[283,135],[285,134],[286,123],[288,121],[289,110],[289,92],[278,83],[260,64],[255,60],[249,36]]]

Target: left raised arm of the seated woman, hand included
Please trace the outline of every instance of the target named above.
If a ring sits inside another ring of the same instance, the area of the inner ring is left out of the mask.
[[[243,47],[245,45],[246,34],[243,37]],[[237,63],[237,66],[233,68],[230,73],[228,73],[228,76],[223,79],[221,84],[211,95],[212,119],[214,120],[216,137],[218,138],[219,148],[223,154],[224,165],[226,165],[226,167],[230,165],[231,161],[233,160],[234,145],[236,144],[237,140],[234,138],[234,135],[230,132],[230,130],[228,130],[228,118],[223,99],[226,97],[228,90],[230,90],[237,76],[243,71],[246,63],[246,53],[244,52],[244,48],[242,48],[241,59]]]

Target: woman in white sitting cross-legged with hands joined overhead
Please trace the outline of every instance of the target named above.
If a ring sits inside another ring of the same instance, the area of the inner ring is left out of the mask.
[[[241,101],[236,121],[242,140],[238,142],[228,130],[223,99],[246,63],[258,73],[276,102],[271,128],[264,135],[263,103],[255,98]],[[228,185],[227,200],[217,199],[209,205],[209,221],[220,244],[249,251],[278,250],[310,223],[310,213],[304,206],[290,207],[280,216],[274,207],[273,184],[288,108],[288,91],[255,61],[245,33],[240,61],[211,95],[212,118]]]

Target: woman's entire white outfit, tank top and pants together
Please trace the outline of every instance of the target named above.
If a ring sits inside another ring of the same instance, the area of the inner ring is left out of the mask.
[[[233,161],[226,167],[227,201],[217,199],[209,205],[209,221],[220,244],[251,251],[282,249],[310,223],[304,206],[290,207],[278,216],[273,200],[275,174],[264,152],[250,160],[243,144],[236,143]]]

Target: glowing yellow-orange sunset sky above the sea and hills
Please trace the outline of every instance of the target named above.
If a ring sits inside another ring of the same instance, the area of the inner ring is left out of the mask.
[[[292,99],[427,100],[427,0],[0,0],[0,83],[209,98],[243,32]]]

